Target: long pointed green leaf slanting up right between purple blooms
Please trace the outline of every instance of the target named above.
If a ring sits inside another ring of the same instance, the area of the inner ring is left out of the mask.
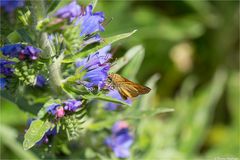
[[[75,55],[68,56],[68,58],[65,58],[62,62],[63,63],[75,62],[76,59],[88,56],[91,53],[95,53],[99,49],[101,49],[101,48],[103,48],[103,47],[105,47],[105,46],[107,46],[109,44],[112,44],[112,43],[114,43],[114,42],[116,42],[118,40],[121,40],[121,39],[124,39],[124,38],[127,38],[127,37],[131,36],[136,31],[137,30],[134,30],[134,31],[129,32],[129,33],[120,34],[120,35],[117,35],[117,36],[103,38],[102,42],[99,45],[95,46],[94,48],[86,50],[86,51],[83,51],[83,52],[76,53]]]

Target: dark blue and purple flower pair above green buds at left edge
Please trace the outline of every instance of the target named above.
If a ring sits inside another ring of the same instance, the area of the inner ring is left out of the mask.
[[[0,48],[4,56],[10,58],[18,58],[19,60],[31,59],[36,60],[41,50],[33,46],[25,46],[23,44],[9,44]]]

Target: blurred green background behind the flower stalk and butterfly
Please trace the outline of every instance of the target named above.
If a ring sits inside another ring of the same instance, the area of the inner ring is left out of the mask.
[[[133,159],[239,158],[239,2],[100,1],[95,10],[107,18],[103,36],[138,30],[112,52],[145,48],[137,80],[160,75],[145,107],[175,109],[141,119]],[[1,157],[33,156],[13,140],[29,116],[1,99]]]

